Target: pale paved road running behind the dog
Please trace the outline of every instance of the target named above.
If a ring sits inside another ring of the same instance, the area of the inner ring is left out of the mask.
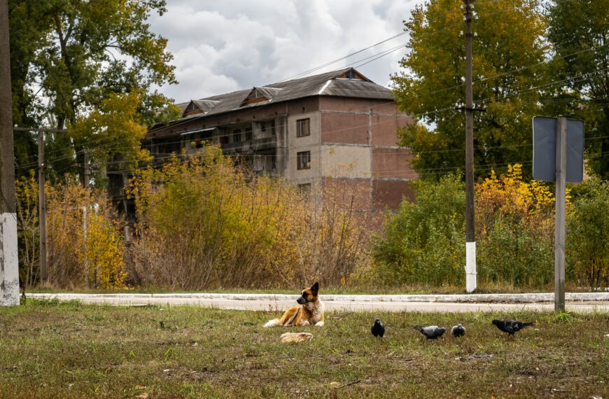
[[[273,300],[270,297],[263,299],[228,299],[226,297],[201,297],[196,295],[70,295],[70,294],[32,294],[34,297],[57,297],[59,300],[78,299],[92,304],[116,304],[137,306],[145,304],[190,304],[204,307],[218,307],[222,309],[242,310],[283,310],[296,304],[297,295],[293,299]],[[338,296],[338,295],[335,295]],[[394,300],[391,302],[367,300],[325,301],[326,310],[359,310],[359,311],[514,311],[537,310],[547,311],[554,309],[554,304],[544,303],[470,303],[470,302],[410,302]],[[322,297],[323,299],[323,297]],[[567,302],[568,311],[609,311],[609,302]]]

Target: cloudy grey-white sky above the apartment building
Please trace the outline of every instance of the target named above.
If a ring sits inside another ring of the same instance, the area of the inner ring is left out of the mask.
[[[402,32],[423,0],[167,0],[151,29],[169,40],[179,85],[176,102],[265,85],[349,55]],[[407,41],[399,36],[315,73],[358,66]],[[358,68],[380,85],[404,50]],[[314,73],[311,73],[314,74]]]

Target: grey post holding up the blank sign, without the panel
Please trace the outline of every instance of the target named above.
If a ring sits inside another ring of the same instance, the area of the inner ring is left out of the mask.
[[[567,118],[556,118],[556,231],[554,233],[554,311],[565,311]]]

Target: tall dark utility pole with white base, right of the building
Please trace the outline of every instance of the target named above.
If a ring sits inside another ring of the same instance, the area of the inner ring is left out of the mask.
[[[474,99],[472,87],[472,8],[465,3],[465,289],[476,289],[476,237],[474,230]]]

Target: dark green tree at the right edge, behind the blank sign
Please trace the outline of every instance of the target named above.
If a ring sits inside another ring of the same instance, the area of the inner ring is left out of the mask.
[[[548,38],[564,82],[554,101],[562,113],[585,120],[588,165],[609,179],[609,0],[552,0],[548,10]]]

